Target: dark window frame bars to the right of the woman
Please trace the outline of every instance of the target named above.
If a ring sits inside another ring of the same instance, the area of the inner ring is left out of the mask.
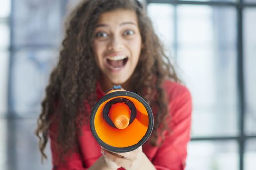
[[[192,137],[191,141],[236,141],[239,147],[239,170],[244,170],[244,153],[245,144],[248,139],[256,139],[256,135],[246,135],[245,133],[245,87],[244,87],[244,52],[243,52],[243,11],[245,8],[256,7],[256,3],[246,3],[244,0],[237,2],[223,1],[186,1],[186,0],[145,0],[146,4],[171,4],[177,5],[207,5],[219,7],[235,7],[237,11],[237,86],[238,86],[238,126],[239,134],[236,136],[208,136],[208,137]],[[174,15],[174,28],[177,28],[177,15]],[[176,29],[174,29],[176,32]],[[176,34],[176,33],[174,33]],[[177,44],[177,37],[174,38],[174,44]],[[176,46],[174,47],[176,48]],[[176,51],[176,49],[174,49]]]

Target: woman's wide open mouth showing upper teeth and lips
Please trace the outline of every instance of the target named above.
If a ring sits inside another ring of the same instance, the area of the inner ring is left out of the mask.
[[[128,61],[128,57],[125,55],[119,55],[119,56],[108,56],[107,58],[107,65],[109,68],[114,70],[120,70],[125,66],[125,64]]]

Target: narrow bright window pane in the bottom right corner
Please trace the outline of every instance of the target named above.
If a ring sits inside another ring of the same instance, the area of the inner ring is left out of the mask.
[[[256,160],[256,139],[251,139],[246,142],[245,147],[245,170],[255,170]]]

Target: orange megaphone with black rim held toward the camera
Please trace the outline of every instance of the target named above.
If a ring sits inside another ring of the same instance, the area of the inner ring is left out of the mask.
[[[149,104],[136,93],[114,86],[93,107],[90,127],[97,142],[112,152],[129,152],[144,144],[153,130]]]

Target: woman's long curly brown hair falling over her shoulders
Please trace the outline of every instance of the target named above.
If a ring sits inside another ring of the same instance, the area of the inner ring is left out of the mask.
[[[89,121],[90,109],[85,108],[85,102],[90,108],[97,102],[95,91],[100,76],[92,49],[94,26],[102,13],[116,9],[133,10],[137,14],[143,48],[129,83],[136,82],[131,91],[142,96],[157,111],[150,143],[156,146],[159,137],[164,139],[162,132],[167,129],[167,122],[163,120],[170,114],[163,81],[179,82],[179,79],[146,10],[137,0],[83,0],[70,14],[59,62],[51,73],[42,102],[36,129],[42,158],[47,158],[44,149],[54,118],[58,119],[57,142],[62,155],[74,149],[76,137],[81,135],[80,127]]]

